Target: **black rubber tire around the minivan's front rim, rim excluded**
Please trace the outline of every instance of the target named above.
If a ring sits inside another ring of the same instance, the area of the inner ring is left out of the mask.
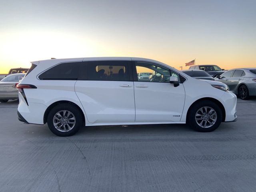
[[[211,126],[209,128],[202,128],[197,124],[195,116],[196,116],[196,112],[198,111],[198,109],[200,109],[202,107],[206,107],[206,106],[211,107],[216,111],[217,120],[213,126]],[[222,122],[222,111],[221,111],[220,107],[212,101],[205,100],[205,101],[201,101],[201,102],[194,104],[188,114],[188,124],[198,132],[214,131],[214,130],[216,130],[216,128],[218,128],[218,126],[220,126],[221,122]]]

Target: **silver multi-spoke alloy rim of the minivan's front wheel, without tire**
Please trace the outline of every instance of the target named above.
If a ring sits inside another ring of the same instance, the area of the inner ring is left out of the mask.
[[[202,107],[196,112],[196,123],[202,128],[209,128],[216,123],[217,113],[211,107]]]

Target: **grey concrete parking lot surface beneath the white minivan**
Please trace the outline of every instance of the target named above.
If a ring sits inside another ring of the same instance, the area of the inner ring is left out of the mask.
[[[0,103],[1,192],[255,192],[256,98],[214,132],[186,125],[96,126],[71,137],[23,124]]]

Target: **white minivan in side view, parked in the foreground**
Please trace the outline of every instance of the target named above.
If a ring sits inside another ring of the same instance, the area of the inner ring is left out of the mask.
[[[58,136],[82,126],[128,124],[187,123],[210,132],[237,119],[236,95],[228,86],[146,58],[35,61],[17,89],[18,119],[47,123]]]

